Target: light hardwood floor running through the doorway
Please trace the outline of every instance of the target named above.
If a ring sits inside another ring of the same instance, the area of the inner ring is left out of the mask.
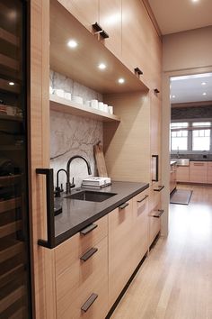
[[[170,232],[150,251],[112,319],[212,319],[212,187],[170,205]],[[123,266],[124,267],[124,266]]]

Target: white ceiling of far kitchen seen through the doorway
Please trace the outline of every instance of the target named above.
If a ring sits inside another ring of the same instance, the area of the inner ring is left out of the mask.
[[[212,73],[171,78],[171,103],[212,101]]]

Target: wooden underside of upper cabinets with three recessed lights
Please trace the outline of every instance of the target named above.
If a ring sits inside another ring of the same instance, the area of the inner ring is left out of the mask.
[[[78,41],[75,50],[67,41]],[[103,62],[107,68],[100,70]],[[50,68],[102,94],[148,91],[146,85],[121,63],[57,0],[50,1]],[[119,84],[119,77],[125,78]]]

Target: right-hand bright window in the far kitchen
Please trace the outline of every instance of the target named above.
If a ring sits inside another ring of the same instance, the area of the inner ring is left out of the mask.
[[[198,129],[192,130],[192,150],[210,150],[210,129],[204,129],[210,127],[210,122],[195,122],[192,126]]]

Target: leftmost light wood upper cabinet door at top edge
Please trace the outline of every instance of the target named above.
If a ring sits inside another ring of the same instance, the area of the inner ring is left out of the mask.
[[[90,32],[92,24],[99,21],[99,0],[58,0]]]

